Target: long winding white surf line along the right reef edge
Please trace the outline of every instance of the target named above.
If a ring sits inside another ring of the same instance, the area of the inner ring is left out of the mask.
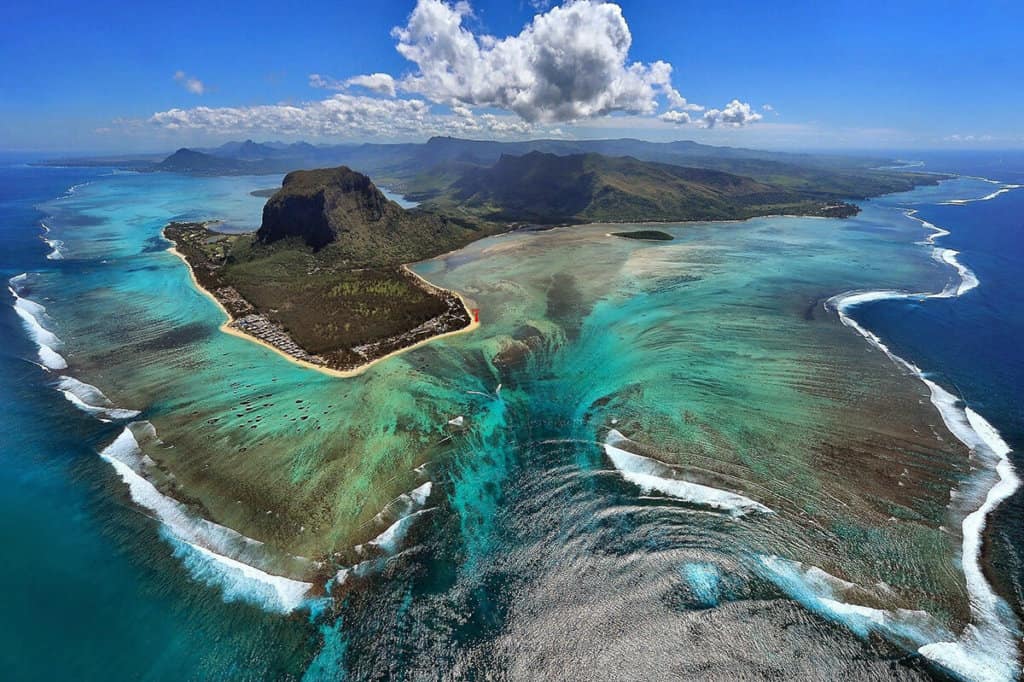
[[[989,195],[982,200],[992,199],[1008,188]],[[968,200],[955,200],[968,201]],[[907,217],[921,222],[932,235],[926,242],[935,241],[949,233],[908,211]],[[876,348],[882,350],[896,365],[916,376],[928,387],[932,404],[938,410],[946,428],[957,440],[967,445],[973,456],[989,470],[994,469],[997,480],[988,489],[979,507],[968,514],[963,522],[962,565],[971,605],[972,623],[965,628],[958,638],[950,635],[948,641],[930,641],[919,648],[919,652],[971,680],[1012,680],[1020,673],[1018,658],[1018,632],[1016,619],[1006,602],[992,590],[985,580],[981,567],[981,547],[985,521],[1004,500],[1020,486],[1020,479],[1010,462],[1010,446],[998,431],[981,415],[963,402],[952,393],[929,379],[924,371],[913,363],[895,354],[882,339],[853,319],[850,311],[858,305],[870,301],[908,298],[955,298],[979,286],[974,272],[961,263],[956,251],[933,246],[933,257],[955,268],[958,283],[947,285],[939,293],[908,294],[898,291],[850,292],[830,298],[826,305],[835,309],[842,323],[863,336]]]

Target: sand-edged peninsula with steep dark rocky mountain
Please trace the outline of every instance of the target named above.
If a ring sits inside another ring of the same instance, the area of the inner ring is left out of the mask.
[[[407,211],[348,168],[297,171],[260,228],[172,222],[164,237],[243,335],[290,359],[351,376],[395,352],[475,327],[469,304],[407,263],[471,241],[441,216]]]

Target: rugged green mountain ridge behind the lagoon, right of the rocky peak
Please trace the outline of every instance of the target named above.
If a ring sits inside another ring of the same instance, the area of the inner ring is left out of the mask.
[[[823,209],[799,191],[722,171],[542,152],[505,155],[490,168],[465,173],[437,205],[447,203],[490,220],[540,223],[715,220]]]

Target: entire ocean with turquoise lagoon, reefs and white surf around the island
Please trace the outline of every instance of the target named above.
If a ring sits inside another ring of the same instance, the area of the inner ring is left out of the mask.
[[[5,677],[1013,678],[1024,157],[904,156],[962,177],[421,264],[481,329],[351,380],[160,238],[280,178],[4,159]]]

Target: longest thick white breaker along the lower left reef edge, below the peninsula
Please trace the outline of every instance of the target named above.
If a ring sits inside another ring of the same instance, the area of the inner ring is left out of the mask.
[[[302,605],[312,585],[257,567],[270,560],[262,543],[197,516],[143,477],[146,463],[136,431],[155,437],[152,424],[133,422],[99,456],[128,485],[132,501],[161,522],[161,532],[193,577],[220,587],[228,601],[245,599],[285,613]]]

